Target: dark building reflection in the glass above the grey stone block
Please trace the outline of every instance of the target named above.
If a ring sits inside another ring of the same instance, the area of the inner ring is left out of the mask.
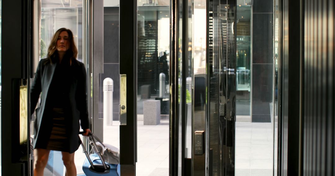
[[[139,7],[139,35],[137,40],[138,94],[141,94],[142,85],[150,85],[150,94],[158,94],[160,73],[165,74],[165,83],[169,83],[167,54],[164,51],[158,51],[158,49],[163,48],[163,46],[158,45],[161,44],[164,38],[164,36],[161,36],[161,33],[159,33],[164,29],[159,28],[166,27],[160,26],[159,24],[161,23],[159,23],[159,20],[165,18],[165,14],[167,13],[169,13],[168,7]],[[168,48],[166,48],[166,50],[168,50]],[[159,52],[162,54],[159,55]]]

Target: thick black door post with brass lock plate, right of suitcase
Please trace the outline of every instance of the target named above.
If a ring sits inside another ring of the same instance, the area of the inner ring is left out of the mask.
[[[121,175],[128,176],[135,175],[137,161],[137,1],[120,1],[119,19],[120,74],[127,75],[127,124],[120,125],[120,164]]]

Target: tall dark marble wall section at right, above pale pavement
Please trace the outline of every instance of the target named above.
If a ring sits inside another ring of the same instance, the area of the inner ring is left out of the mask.
[[[272,0],[254,0],[252,12],[252,122],[270,122]]]

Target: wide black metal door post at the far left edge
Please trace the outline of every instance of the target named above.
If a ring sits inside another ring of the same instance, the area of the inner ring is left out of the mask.
[[[28,63],[32,54],[32,1],[3,0],[1,10],[2,175],[30,175],[29,138],[24,144],[20,144],[19,103],[20,85],[23,80],[26,84],[30,71]],[[26,108],[30,121],[29,108]],[[29,126],[26,130],[29,134]]]

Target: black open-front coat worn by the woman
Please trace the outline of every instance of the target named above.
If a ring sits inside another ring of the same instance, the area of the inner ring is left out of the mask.
[[[33,113],[37,101],[41,95],[41,104],[36,109],[35,136],[32,142],[34,148],[36,146],[46,146],[52,130],[52,118],[50,117],[51,108],[48,99],[48,90],[55,72],[56,64],[51,63],[48,58],[39,62],[35,74],[34,82],[30,88],[30,112]],[[70,88],[69,97],[70,108],[68,114],[71,118],[66,121],[66,133],[70,141],[70,153],[75,152],[79,145],[80,139],[79,120],[82,129],[89,128],[88,112],[87,112],[87,96],[86,96],[86,71],[84,64],[73,60],[70,67]],[[50,97],[50,96],[49,96]]]

